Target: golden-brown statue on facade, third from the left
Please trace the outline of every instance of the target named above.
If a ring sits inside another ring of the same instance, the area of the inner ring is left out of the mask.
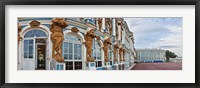
[[[107,38],[103,41],[103,50],[104,50],[104,61],[108,62],[108,47],[112,45],[110,38]]]

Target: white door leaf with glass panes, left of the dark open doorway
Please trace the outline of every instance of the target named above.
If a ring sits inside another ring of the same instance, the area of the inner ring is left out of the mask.
[[[35,42],[34,39],[25,39],[23,47],[23,60],[22,60],[22,69],[23,70],[35,70]]]

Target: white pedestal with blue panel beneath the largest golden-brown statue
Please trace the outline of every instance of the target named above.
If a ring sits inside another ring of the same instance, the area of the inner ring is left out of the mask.
[[[65,63],[57,62],[55,59],[52,58],[52,69],[53,70],[65,70]]]

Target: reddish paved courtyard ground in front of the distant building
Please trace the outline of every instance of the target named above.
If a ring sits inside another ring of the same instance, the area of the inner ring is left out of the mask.
[[[131,70],[182,70],[182,63],[137,63]]]

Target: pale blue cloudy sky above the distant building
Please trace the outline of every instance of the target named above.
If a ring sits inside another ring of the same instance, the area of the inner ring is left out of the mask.
[[[161,48],[182,56],[182,17],[124,18],[136,49]]]

